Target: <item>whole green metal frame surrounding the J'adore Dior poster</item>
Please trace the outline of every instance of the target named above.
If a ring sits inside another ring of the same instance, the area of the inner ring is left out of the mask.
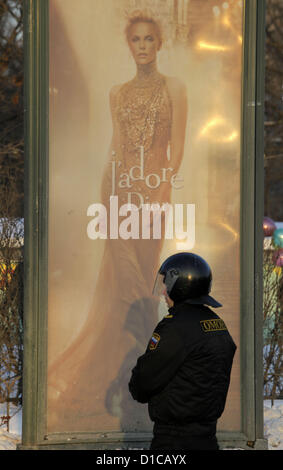
[[[24,0],[25,302],[20,449],[147,448],[151,435],[46,436],[48,274],[49,1]],[[246,0],[241,157],[241,432],[220,446],[265,449],[262,380],[262,220],[265,1]],[[70,443],[71,439],[71,443]]]

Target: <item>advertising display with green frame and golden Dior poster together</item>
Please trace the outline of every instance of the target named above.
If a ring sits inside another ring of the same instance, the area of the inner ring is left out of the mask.
[[[156,273],[184,251],[237,345],[218,439],[260,446],[263,2],[25,13],[23,448],[149,446],[128,382],[167,313]]]

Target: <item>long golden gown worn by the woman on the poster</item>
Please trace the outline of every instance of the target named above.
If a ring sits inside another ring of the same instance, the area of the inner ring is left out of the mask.
[[[170,167],[172,103],[166,78],[155,64],[140,67],[133,80],[118,87],[113,119],[116,142],[101,186],[101,202],[108,215],[113,162],[119,207],[129,202],[129,193],[137,206],[170,202],[170,184],[161,182],[161,168]],[[140,164],[141,151],[144,179],[140,179],[141,169],[134,168]],[[147,409],[133,401],[128,381],[158,321],[152,288],[161,248],[162,239],[143,240],[141,233],[139,239],[108,237],[105,241],[86,325],[49,371],[53,387],[48,402],[50,432],[150,429]]]

